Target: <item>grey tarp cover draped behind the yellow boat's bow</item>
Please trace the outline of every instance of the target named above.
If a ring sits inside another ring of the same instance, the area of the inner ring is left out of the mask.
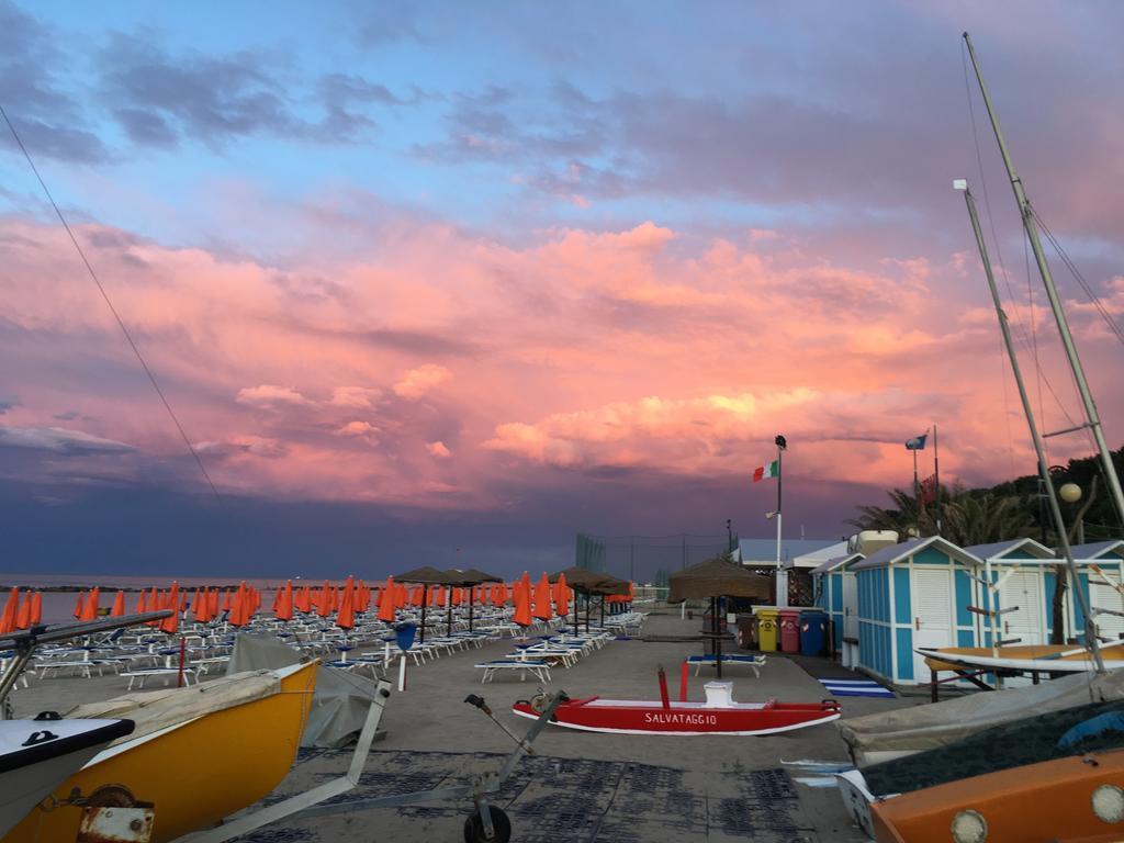
[[[299,651],[272,636],[238,635],[227,672],[283,668],[299,661]],[[374,700],[375,687],[370,679],[321,665],[300,745],[338,749],[355,740]]]

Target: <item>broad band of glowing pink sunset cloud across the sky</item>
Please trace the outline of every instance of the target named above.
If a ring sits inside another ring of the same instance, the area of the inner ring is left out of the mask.
[[[182,454],[65,241],[21,219],[3,230],[0,354],[20,360],[4,423],[67,414],[84,435]],[[901,442],[933,420],[942,475],[1033,468],[962,252],[871,243],[841,264],[782,233],[698,239],[650,221],[515,246],[411,220],[378,259],[310,250],[282,269],[79,235],[220,488],[495,507],[501,484],[560,468],[744,477],[778,432],[797,475],[901,483]],[[1115,345],[1086,310],[1075,326],[1120,441]],[[1043,426],[1064,426],[1049,401]],[[1054,443],[1055,460],[1084,450]]]

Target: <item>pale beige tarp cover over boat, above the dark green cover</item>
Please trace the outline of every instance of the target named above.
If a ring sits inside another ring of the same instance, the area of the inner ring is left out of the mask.
[[[982,691],[959,699],[879,711],[835,726],[856,767],[945,746],[990,726],[1088,703],[1124,699],[1124,671],[1079,673],[1028,688]]]

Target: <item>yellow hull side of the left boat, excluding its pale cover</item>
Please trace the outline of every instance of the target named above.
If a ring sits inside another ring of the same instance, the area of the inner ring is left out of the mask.
[[[317,663],[277,671],[280,691],[178,723],[98,753],[53,789],[64,799],[107,785],[152,803],[152,843],[207,828],[265,797],[289,773],[311,707]],[[2,843],[73,841],[81,809],[33,810]]]

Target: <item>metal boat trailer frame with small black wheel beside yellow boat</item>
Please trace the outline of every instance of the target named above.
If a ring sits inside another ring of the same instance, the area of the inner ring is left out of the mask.
[[[524,755],[534,754],[532,744],[554,715],[554,709],[568,699],[565,694],[560,691],[551,695],[545,700],[545,706],[538,719],[531,724],[531,727],[522,737],[496,719],[483,697],[470,694],[464,699],[469,705],[480,709],[505,734],[515,741],[515,749],[507,756],[507,761],[505,761],[498,772],[475,773],[463,785],[436,788],[434,790],[417,790],[410,794],[381,796],[371,799],[352,799],[350,801],[324,805],[323,803],[326,800],[346,794],[359,786],[360,777],[366,767],[371,744],[374,741],[375,732],[379,728],[379,722],[382,719],[382,711],[387,707],[389,697],[390,682],[384,679],[380,680],[374,700],[371,703],[371,708],[368,711],[366,720],[360,732],[355,752],[352,754],[351,765],[344,776],[326,781],[311,790],[297,794],[274,805],[255,810],[252,814],[237,816],[229,822],[223,823],[217,828],[193,832],[179,837],[174,843],[226,843],[226,841],[234,840],[247,832],[298,815],[305,818],[328,816],[332,814],[350,814],[356,810],[371,810],[374,808],[397,808],[432,799],[459,799],[464,797],[472,799],[473,804],[473,812],[464,821],[464,840],[468,843],[508,843],[511,839],[511,822],[508,819],[507,814],[502,809],[491,805],[488,798],[499,792],[504,782],[511,776]]]

